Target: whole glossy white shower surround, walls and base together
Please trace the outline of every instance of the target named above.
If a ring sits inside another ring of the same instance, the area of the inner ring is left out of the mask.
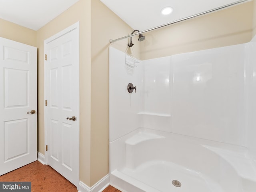
[[[128,73],[125,54],[110,47],[110,184],[124,192],[256,191],[255,52],[254,38],[140,61]]]

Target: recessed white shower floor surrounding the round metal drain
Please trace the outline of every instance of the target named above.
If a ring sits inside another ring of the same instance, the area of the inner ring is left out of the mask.
[[[124,185],[135,184],[128,190],[132,192],[213,192],[209,185],[214,186],[215,192],[224,192],[218,184],[206,180],[199,173],[171,162],[148,162],[136,170],[124,168],[111,174]],[[176,184],[172,181],[176,181]]]

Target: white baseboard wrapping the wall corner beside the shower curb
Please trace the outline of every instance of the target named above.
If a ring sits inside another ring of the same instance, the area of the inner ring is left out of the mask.
[[[94,186],[88,187],[82,181],[79,182],[78,192],[102,192],[109,185],[109,174],[99,180]]]

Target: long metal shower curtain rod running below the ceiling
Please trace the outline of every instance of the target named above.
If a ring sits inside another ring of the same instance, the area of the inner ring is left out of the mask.
[[[198,13],[198,14],[195,14],[195,15],[192,15],[192,16],[189,16],[189,17],[180,19],[180,20],[176,20],[176,21],[173,21],[173,22],[170,22],[170,23],[167,23],[167,24],[163,24],[163,25],[160,25],[160,26],[151,28],[151,29],[147,29],[147,30],[138,32],[138,33],[136,33],[136,34],[131,34],[131,35],[124,36],[124,37],[121,37],[121,38],[118,38],[118,39],[114,39],[114,40],[110,39],[109,42],[110,42],[110,44],[113,44],[113,43],[116,42],[116,41],[119,41],[119,40],[122,40],[122,39],[125,39],[125,38],[129,38],[129,37],[132,37],[132,36],[134,36],[134,35],[139,35],[139,34],[146,33],[146,32],[152,31],[152,30],[156,30],[156,29],[159,29],[159,28],[162,28],[162,27],[171,25],[171,24],[175,24],[175,23],[178,23],[178,22],[182,22],[182,21],[185,21],[185,20],[188,20],[188,19],[197,17],[197,16],[201,16],[201,15],[204,15],[204,14],[207,14],[207,13],[210,13],[210,12],[218,11],[218,10],[221,10],[221,9],[224,9],[224,8],[227,8],[227,7],[230,7],[230,6],[233,6],[233,5],[237,5],[237,4],[240,4],[240,3],[244,3],[244,2],[247,2],[247,1],[251,1],[251,0],[240,0],[240,1],[237,1],[237,2],[233,2],[233,3],[227,4],[227,5],[224,5],[224,6],[215,8],[215,9],[211,9],[211,10],[208,10],[208,11],[205,11],[205,12],[202,12],[202,13]]]

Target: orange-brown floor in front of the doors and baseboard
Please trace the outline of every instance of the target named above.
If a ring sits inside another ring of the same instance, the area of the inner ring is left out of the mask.
[[[31,182],[31,192],[77,192],[76,186],[48,165],[38,161],[0,176],[0,182]],[[120,192],[108,186],[103,192]]]

